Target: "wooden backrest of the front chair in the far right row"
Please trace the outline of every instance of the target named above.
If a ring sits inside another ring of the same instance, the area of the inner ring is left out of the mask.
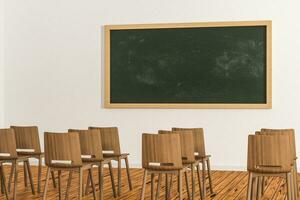
[[[293,157],[287,135],[249,135],[248,171],[289,172]]]

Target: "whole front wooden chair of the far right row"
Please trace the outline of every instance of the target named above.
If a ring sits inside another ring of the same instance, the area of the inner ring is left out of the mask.
[[[247,200],[260,198],[262,177],[282,177],[287,183],[287,199],[295,200],[292,186],[292,163],[290,140],[286,135],[249,135],[248,162],[249,172]]]

